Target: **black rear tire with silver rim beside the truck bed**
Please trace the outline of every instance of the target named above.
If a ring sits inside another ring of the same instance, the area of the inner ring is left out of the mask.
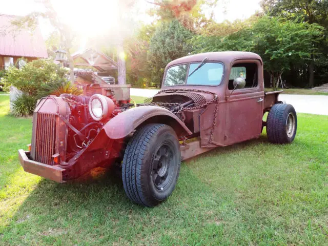
[[[296,135],[297,116],[290,104],[275,104],[267,118],[267,135],[274,144],[290,144]]]

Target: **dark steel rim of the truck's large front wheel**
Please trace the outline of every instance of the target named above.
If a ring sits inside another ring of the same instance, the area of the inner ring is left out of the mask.
[[[163,191],[174,173],[173,151],[168,144],[161,145],[155,152],[152,163],[152,180],[156,189]]]

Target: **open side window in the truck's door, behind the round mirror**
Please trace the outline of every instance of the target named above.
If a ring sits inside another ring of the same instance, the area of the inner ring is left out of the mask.
[[[256,63],[235,64],[230,71],[228,89],[229,90],[234,89],[233,82],[234,79],[238,77],[242,77],[246,80],[246,85],[244,88],[257,87],[258,84],[257,72],[258,71],[257,71]]]

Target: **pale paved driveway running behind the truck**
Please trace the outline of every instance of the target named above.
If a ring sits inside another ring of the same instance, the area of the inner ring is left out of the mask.
[[[131,89],[132,96],[152,97],[159,90]],[[328,115],[328,96],[319,95],[279,95],[279,100],[294,106],[298,113]]]

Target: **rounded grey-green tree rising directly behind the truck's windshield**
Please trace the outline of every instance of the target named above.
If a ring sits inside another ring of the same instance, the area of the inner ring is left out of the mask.
[[[184,28],[178,20],[162,23],[150,39],[148,63],[152,71],[152,80],[160,84],[166,65],[174,59],[188,55],[192,46],[188,42],[193,34]]]

